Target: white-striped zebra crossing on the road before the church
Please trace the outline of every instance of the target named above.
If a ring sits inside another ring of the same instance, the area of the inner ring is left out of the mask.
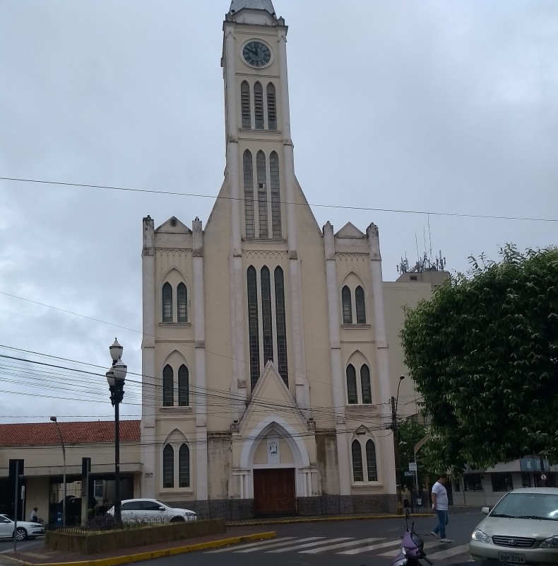
[[[218,553],[299,553],[299,554],[319,554],[335,553],[340,555],[359,555],[372,553],[376,556],[393,558],[398,555],[401,546],[401,539],[394,538],[386,540],[381,537],[372,538],[352,538],[342,536],[338,538],[327,538],[325,536],[309,536],[297,538],[295,536],[283,536],[271,538],[266,541],[254,543],[244,543],[231,545],[225,548],[207,550],[206,554]],[[450,558],[459,554],[468,554],[469,545],[449,545],[440,541],[425,542],[428,558],[442,559]]]

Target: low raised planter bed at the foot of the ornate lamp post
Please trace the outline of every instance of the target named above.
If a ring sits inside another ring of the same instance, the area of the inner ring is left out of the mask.
[[[47,531],[44,548],[71,553],[95,554],[104,550],[117,550],[155,543],[182,541],[186,538],[226,532],[225,519],[186,521],[157,526],[141,526],[138,529],[102,531],[97,533],[71,533]]]

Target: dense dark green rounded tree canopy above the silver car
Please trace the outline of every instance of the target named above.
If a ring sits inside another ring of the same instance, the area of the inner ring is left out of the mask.
[[[405,364],[432,415],[439,469],[558,461],[558,248],[471,260],[405,311]]]

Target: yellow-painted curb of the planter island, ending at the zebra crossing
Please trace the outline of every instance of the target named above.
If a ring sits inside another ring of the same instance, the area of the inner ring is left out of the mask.
[[[9,556],[3,556],[22,566],[118,566],[120,564],[129,564],[130,562],[139,562],[140,560],[151,560],[152,558],[162,558],[164,556],[173,556],[177,554],[193,553],[196,550],[207,550],[208,548],[219,548],[220,546],[228,546],[232,544],[247,543],[249,541],[262,541],[268,538],[275,538],[275,531],[266,533],[255,533],[242,536],[232,536],[230,538],[222,538],[218,541],[207,541],[205,543],[196,543],[185,546],[177,546],[174,548],[164,548],[161,550],[151,550],[150,552],[136,553],[124,556],[113,556],[111,558],[99,558],[97,560],[80,560],[78,562],[30,562],[28,560],[18,560]]]

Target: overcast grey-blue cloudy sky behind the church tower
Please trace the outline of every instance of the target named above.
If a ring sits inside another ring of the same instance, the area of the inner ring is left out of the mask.
[[[377,224],[386,280],[431,243],[451,272],[507,242],[557,244],[556,0],[273,5],[289,26],[295,171],[320,226]],[[140,415],[141,221],[208,219],[229,6],[0,0],[0,177],[54,183],[0,180],[0,421],[112,418],[115,336],[121,415]]]

